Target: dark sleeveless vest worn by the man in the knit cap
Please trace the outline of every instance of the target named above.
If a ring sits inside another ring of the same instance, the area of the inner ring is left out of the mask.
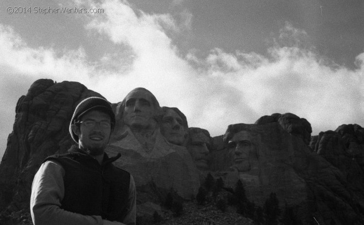
[[[65,196],[61,208],[83,215],[123,222],[127,211],[130,173],[112,164],[120,157],[104,154],[103,163],[72,146],[70,153],[45,159],[60,163],[65,169]],[[44,161],[44,162],[45,162]]]

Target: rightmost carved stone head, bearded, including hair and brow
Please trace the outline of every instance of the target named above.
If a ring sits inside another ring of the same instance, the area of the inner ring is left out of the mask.
[[[232,124],[224,135],[224,141],[228,144],[228,151],[232,153],[233,165],[240,172],[246,172],[256,167],[258,152],[252,143],[252,138],[248,131],[244,130],[246,124]]]

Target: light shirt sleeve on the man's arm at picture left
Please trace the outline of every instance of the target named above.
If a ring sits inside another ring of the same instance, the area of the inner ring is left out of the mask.
[[[102,225],[101,216],[86,216],[60,208],[65,195],[64,175],[64,168],[54,161],[47,161],[40,166],[32,184],[30,210],[33,224]]]

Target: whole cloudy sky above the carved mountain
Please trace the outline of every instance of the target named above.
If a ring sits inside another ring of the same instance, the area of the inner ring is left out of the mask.
[[[286,112],[364,126],[362,0],[3,0],[0,52],[0,158],[40,78],[144,87],[211,136]]]

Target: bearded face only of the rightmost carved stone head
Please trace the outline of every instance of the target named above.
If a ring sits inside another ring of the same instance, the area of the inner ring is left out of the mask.
[[[229,152],[234,153],[233,167],[239,171],[249,171],[251,169],[249,156],[253,148],[254,146],[251,144],[247,131],[240,131],[233,135],[228,144]]]

